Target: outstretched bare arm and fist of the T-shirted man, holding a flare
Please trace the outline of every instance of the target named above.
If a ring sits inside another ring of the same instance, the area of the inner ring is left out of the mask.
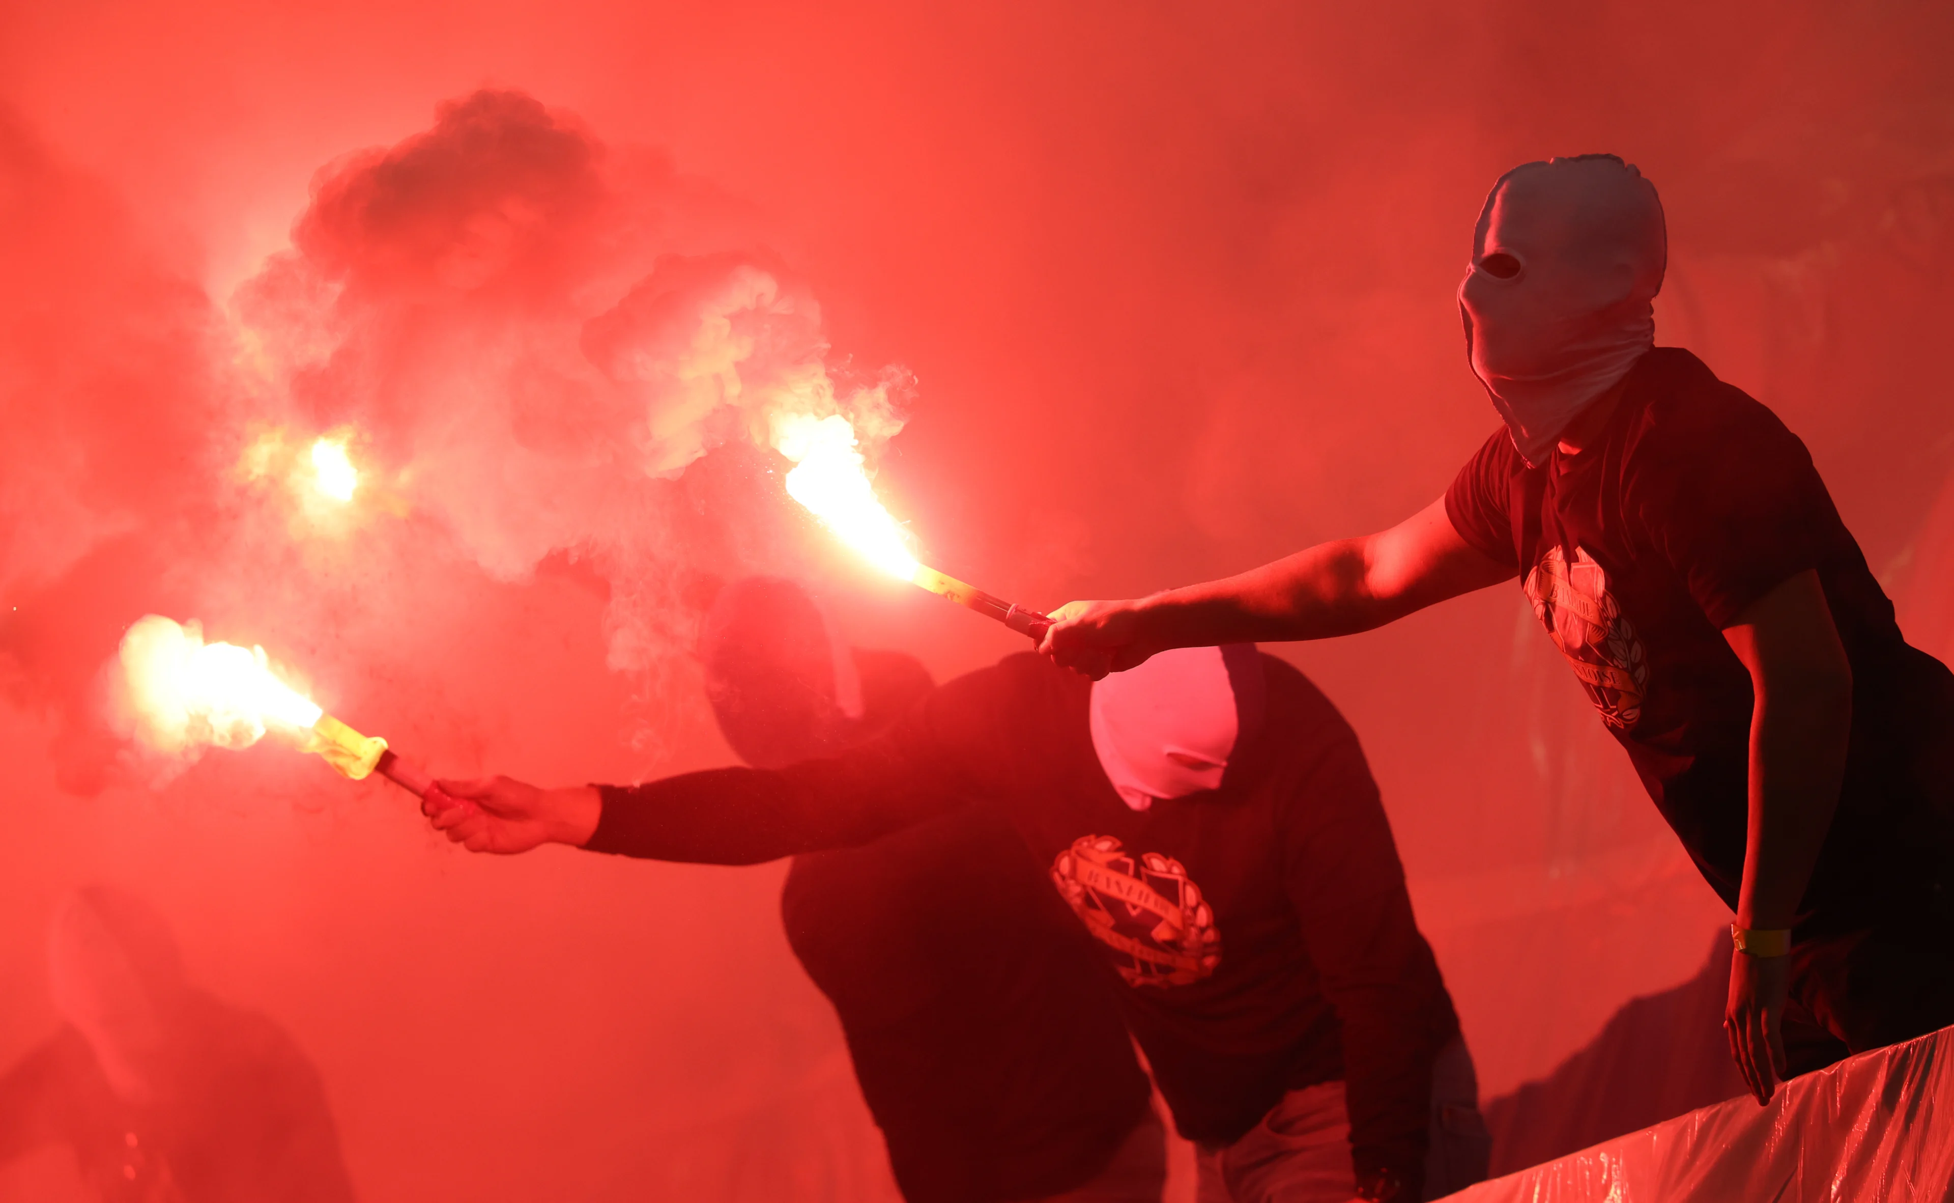
[[[1317,544],[1237,577],[1139,601],[1067,602],[1041,649],[1104,677],[1168,647],[1348,636],[1510,577],[1460,538],[1438,499],[1389,530]]]

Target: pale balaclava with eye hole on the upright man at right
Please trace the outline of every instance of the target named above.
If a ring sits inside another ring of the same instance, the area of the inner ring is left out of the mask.
[[[1614,155],[1493,184],[1460,284],[1473,376],[1530,466],[1655,344],[1669,237],[1655,186]]]

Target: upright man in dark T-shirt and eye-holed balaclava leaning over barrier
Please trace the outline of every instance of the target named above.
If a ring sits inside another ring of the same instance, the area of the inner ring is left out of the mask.
[[[1239,577],[1073,602],[1045,651],[1104,675],[1518,579],[1735,910],[1725,1029],[1764,1101],[1786,1072],[1954,1023],[1954,677],[1901,640],[1804,444],[1653,346],[1665,260],[1655,188],[1620,158],[1507,172],[1460,286],[1505,428],[1446,495]]]

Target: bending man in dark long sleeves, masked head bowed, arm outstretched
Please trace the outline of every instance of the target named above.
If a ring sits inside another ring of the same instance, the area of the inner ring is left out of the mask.
[[[430,804],[434,824],[477,851],[555,839],[719,865],[997,808],[1124,978],[1204,1201],[1411,1203],[1483,1174],[1471,1062],[1364,753],[1251,646],[1098,685],[1014,655],[784,769],[444,788],[465,802]]]

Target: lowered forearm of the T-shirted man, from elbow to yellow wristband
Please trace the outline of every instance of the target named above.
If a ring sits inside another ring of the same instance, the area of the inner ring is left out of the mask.
[[[1751,716],[1749,833],[1737,925],[1786,929],[1839,808],[1850,681],[1774,681]]]

